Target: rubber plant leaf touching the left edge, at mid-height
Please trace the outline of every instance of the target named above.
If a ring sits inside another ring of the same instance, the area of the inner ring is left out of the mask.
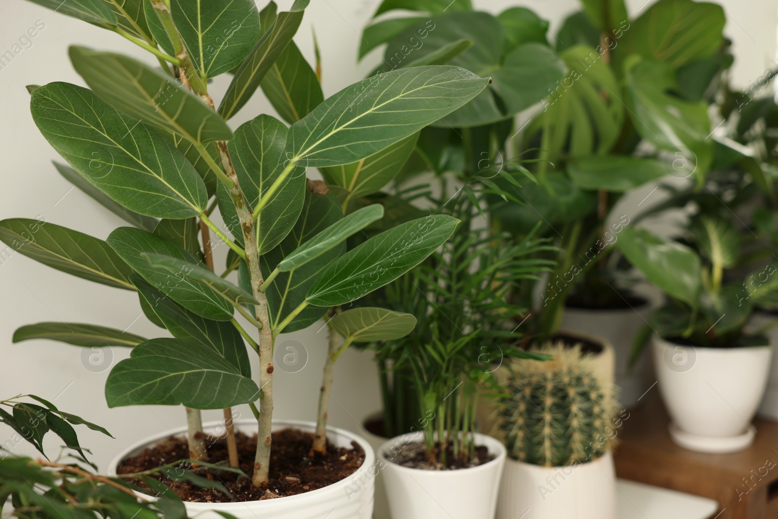
[[[79,278],[134,290],[132,269],[103,240],[44,221],[0,221],[0,240],[25,256]]]

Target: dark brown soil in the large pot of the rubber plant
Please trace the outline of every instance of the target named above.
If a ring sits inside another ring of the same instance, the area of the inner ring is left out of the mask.
[[[204,489],[185,481],[172,482],[163,476],[160,476],[159,480],[170,486],[184,501],[232,503],[267,500],[321,489],[352,475],[365,461],[365,451],[356,442],[352,442],[351,449],[334,447],[328,442],[327,454],[310,457],[308,453],[314,443],[312,433],[303,433],[296,429],[275,431],[272,436],[270,482],[267,488],[261,489],[251,486],[257,435],[247,437],[244,433],[236,433],[236,440],[240,469],[249,476],[248,478],[214,468],[192,469],[197,475],[221,482],[233,493],[232,497],[226,496],[218,489]],[[226,440],[206,437],[204,444],[209,446],[206,451],[209,463],[229,466]],[[189,458],[189,449],[186,438],[169,437],[145,449],[137,456],[124,459],[116,472],[134,474],[187,458]],[[142,488],[149,488],[141,480],[132,482]]]

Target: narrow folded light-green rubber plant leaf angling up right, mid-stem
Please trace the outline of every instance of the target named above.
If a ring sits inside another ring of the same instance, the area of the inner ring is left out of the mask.
[[[384,218],[383,205],[371,204],[357,209],[297,247],[276,268],[281,272],[289,272],[305,265],[308,261],[314,260],[321,254],[331,251],[338,244],[342,244],[352,234],[382,218]]]

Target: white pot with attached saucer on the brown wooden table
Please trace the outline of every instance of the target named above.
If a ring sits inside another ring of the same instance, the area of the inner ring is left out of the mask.
[[[654,335],[654,366],[681,447],[736,452],[752,444],[750,421],[762,400],[773,348],[701,348]]]

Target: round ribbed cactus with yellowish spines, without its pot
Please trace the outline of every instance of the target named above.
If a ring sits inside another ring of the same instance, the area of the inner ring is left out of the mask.
[[[498,409],[498,435],[511,458],[559,467],[599,458],[615,442],[612,384],[599,380],[580,345],[535,349],[553,360],[519,360]]]

